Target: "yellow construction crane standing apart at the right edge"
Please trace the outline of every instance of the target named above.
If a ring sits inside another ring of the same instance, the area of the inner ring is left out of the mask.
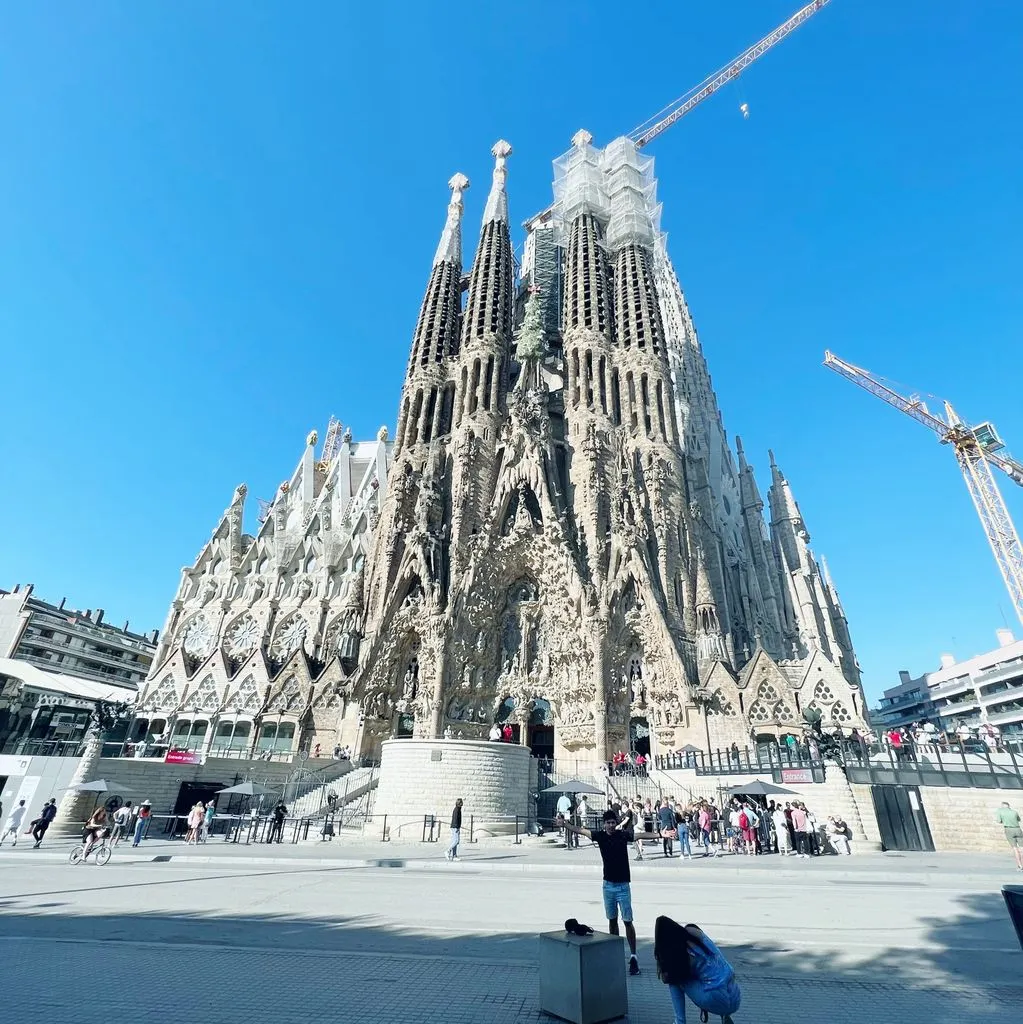
[[[1023,486],[1023,463],[1013,459],[1005,451],[994,424],[979,423],[972,427],[963,421],[947,401],[944,402],[945,419],[942,419],[930,412],[920,398],[907,398],[893,391],[869,371],[854,367],[833,352],[824,353],[824,366],[929,427],[938,435],[942,444],[951,444],[987,536],[987,543],[994,552],[994,560],[998,563],[1006,587],[1009,588],[1013,607],[1023,623],[1023,545],[1020,544],[1019,534],[1016,532],[1016,526],[991,472],[991,467],[994,466],[1014,483]]]

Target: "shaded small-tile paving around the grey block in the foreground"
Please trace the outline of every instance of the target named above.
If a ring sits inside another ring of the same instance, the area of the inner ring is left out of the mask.
[[[18,1024],[105,1024],[110,1005],[97,985],[130,992],[134,1024],[168,1019],[238,1024],[358,1021],[360,1024],[529,1024],[540,1013],[531,965],[442,956],[322,954],[289,950],[85,941],[3,941],[3,1001]],[[625,966],[623,964],[623,970]],[[1023,989],[949,983],[906,988],[837,977],[741,978],[738,1021],[791,1024],[903,1022],[973,1024],[1019,1009]],[[123,987],[122,987],[123,986]],[[629,979],[631,1024],[671,1019],[665,986],[649,968]],[[692,1009],[692,1008],[690,1008]],[[693,1010],[691,1020],[697,1020]]]

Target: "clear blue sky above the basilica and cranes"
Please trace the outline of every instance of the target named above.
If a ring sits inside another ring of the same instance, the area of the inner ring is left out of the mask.
[[[495,139],[519,221],[578,128],[798,0],[46,6],[0,39],[0,586],[153,628],[239,482],[251,528],[310,428],[393,424],[454,171],[471,251]],[[1023,452],[1021,39],[1010,0],[834,0],[650,151],[726,427],[765,486],[777,453],[871,696],[1019,627],[951,453],[820,357]]]

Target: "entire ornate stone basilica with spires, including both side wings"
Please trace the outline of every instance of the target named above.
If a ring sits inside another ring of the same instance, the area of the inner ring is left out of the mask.
[[[772,456],[768,526],[729,446],[652,160],[579,132],[516,276],[493,152],[467,274],[451,179],[393,439],[310,434],[255,537],[238,488],[182,572],[137,737],[373,756],[497,721],[600,761],[776,739],[811,706],[864,725],[790,484]]]

